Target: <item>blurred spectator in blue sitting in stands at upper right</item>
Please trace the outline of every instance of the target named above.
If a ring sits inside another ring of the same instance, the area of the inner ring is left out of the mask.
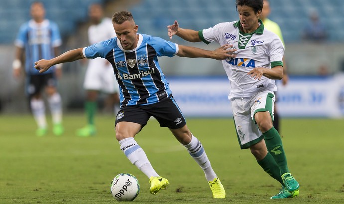
[[[306,24],[302,38],[307,41],[321,42],[328,38],[325,25],[320,22],[317,11],[312,11],[309,16],[309,22]]]

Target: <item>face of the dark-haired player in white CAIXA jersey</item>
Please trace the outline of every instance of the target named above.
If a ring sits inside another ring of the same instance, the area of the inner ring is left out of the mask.
[[[238,13],[241,27],[245,33],[254,32],[259,27],[258,18],[260,16],[260,11],[255,14],[252,7],[238,5]]]

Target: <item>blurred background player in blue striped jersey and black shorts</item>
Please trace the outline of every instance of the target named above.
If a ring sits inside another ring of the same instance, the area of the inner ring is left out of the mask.
[[[32,114],[38,125],[37,136],[47,133],[47,122],[45,117],[45,104],[42,98],[44,88],[47,101],[50,106],[53,122],[53,133],[61,135],[64,131],[62,126],[62,102],[57,92],[57,80],[61,76],[61,66],[54,66],[45,73],[39,73],[34,68],[34,62],[42,58],[53,58],[58,54],[58,47],[62,44],[57,25],[45,19],[45,9],[41,2],[31,4],[32,19],[24,23],[19,30],[15,40],[16,52],[13,61],[13,74],[19,78],[22,74],[21,67],[25,54],[26,94],[30,99]]]

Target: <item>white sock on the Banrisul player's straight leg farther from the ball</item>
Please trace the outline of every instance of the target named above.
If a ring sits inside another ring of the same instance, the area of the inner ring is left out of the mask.
[[[208,159],[208,156],[205,153],[202,143],[200,143],[200,141],[195,136],[192,135],[191,142],[184,146],[187,148],[191,157],[203,169],[205,178],[208,181],[213,181],[216,178],[216,174],[211,167],[210,161]]]

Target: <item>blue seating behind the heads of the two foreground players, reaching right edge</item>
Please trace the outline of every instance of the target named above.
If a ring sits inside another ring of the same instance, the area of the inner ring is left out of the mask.
[[[343,0],[271,0],[273,12],[270,19],[276,21],[286,43],[301,41],[301,33],[308,21],[309,12],[316,10],[320,20],[329,29],[329,41],[344,41]],[[155,34],[167,39],[166,26],[178,20],[181,27],[204,29],[219,22],[238,19],[235,7],[228,0],[141,0],[130,11],[136,19],[139,32]]]

